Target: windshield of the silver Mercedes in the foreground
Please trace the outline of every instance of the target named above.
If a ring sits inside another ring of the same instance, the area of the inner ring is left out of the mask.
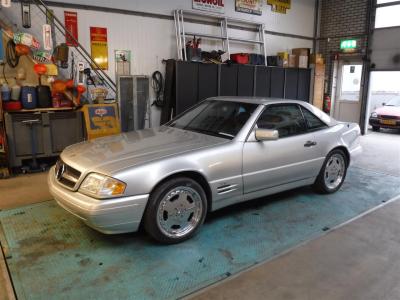
[[[168,126],[233,139],[257,108],[256,104],[207,100],[172,120]]]

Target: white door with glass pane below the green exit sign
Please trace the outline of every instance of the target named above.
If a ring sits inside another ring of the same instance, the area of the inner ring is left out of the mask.
[[[362,62],[340,62],[333,117],[344,122],[359,123],[361,113]]]

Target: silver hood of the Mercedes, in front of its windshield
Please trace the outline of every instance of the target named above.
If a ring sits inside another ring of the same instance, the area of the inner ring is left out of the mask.
[[[229,141],[162,126],[75,144],[62,152],[61,159],[81,172],[114,174],[131,166]]]

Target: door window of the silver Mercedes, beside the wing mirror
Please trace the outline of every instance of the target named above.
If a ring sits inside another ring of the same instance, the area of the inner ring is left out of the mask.
[[[303,134],[307,131],[300,108],[295,104],[268,106],[258,119],[257,127],[276,129],[280,138]]]

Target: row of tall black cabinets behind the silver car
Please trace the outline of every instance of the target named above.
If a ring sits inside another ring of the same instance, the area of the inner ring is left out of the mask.
[[[310,80],[310,69],[176,61],[173,83],[175,103],[172,104],[176,111],[173,115],[214,96],[258,96],[309,101]]]

